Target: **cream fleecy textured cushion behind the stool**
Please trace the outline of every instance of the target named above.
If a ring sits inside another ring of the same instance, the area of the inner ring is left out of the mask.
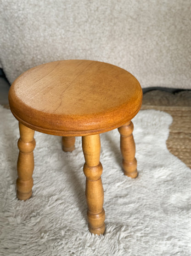
[[[145,87],[191,89],[191,0],[0,1],[8,80],[45,62],[118,65]]]

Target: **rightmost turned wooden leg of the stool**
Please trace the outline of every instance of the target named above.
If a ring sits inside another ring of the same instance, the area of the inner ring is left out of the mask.
[[[131,177],[137,177],[137,161],[135,158],[135,142],[133,138],[133,123],[129,121],[118,128],[121,134],[120,148],[123,155],[124,174]]]

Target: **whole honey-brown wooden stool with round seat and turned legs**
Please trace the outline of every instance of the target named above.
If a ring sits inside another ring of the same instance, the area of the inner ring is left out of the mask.
[[[142,103],[139,82],[117,66],[90,60],[62,60],[36,66],[19,76],[9,91],[11,112],[19,121],[17,197],[32,195],[34,131],[62,136],[73,151],[82,136],[89,230],[105,231],[101,183],[100,133],[118,128],[124,174],[135,178],[137,162],[131,119]]]

